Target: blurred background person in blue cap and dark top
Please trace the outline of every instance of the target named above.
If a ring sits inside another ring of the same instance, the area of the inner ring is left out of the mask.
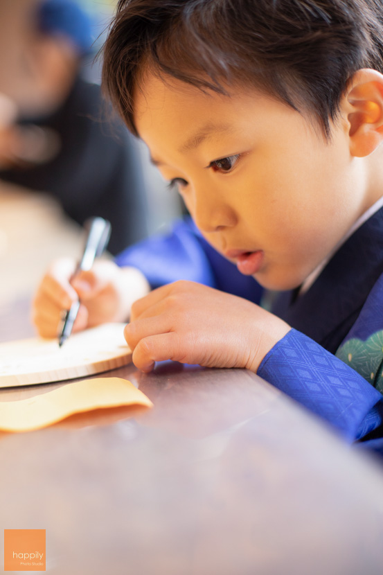
[[[30,94],[21,88],[6,94],[6,83],[1,87],[15,101],[19,121],[3,132],[8,153],[0,158],[0,178],[53,195],[79,224],[106,218],[112,223],[109,251],[116,254],[148,236],[139,146],[112,116],[100,87],[81,78],[82,57],[91,51],[89,17],[71,0],[33,8],[35,54],[26,58],[35,57],[36,91],[31,83]]]

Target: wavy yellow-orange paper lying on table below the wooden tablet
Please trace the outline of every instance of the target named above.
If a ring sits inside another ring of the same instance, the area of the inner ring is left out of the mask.
[[[33,398],[0,402],[0,430],[38,430],[73,414],[121,405],[152,407],[153,404],[130,381],[121,378],[82,380]]]

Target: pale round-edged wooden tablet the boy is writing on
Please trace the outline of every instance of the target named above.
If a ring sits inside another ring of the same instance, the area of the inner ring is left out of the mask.
[[[124,324],[104,324],[57,339],[33,337],[0,344],[0,387],[48,383],[102,373],[130,363]]]

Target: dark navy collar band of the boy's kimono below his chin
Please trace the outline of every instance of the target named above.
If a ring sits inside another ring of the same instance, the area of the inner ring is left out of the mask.
[[[383,273],[383,207],[339,247],[307,292],[281,293],[272,311],[335,353]]]

